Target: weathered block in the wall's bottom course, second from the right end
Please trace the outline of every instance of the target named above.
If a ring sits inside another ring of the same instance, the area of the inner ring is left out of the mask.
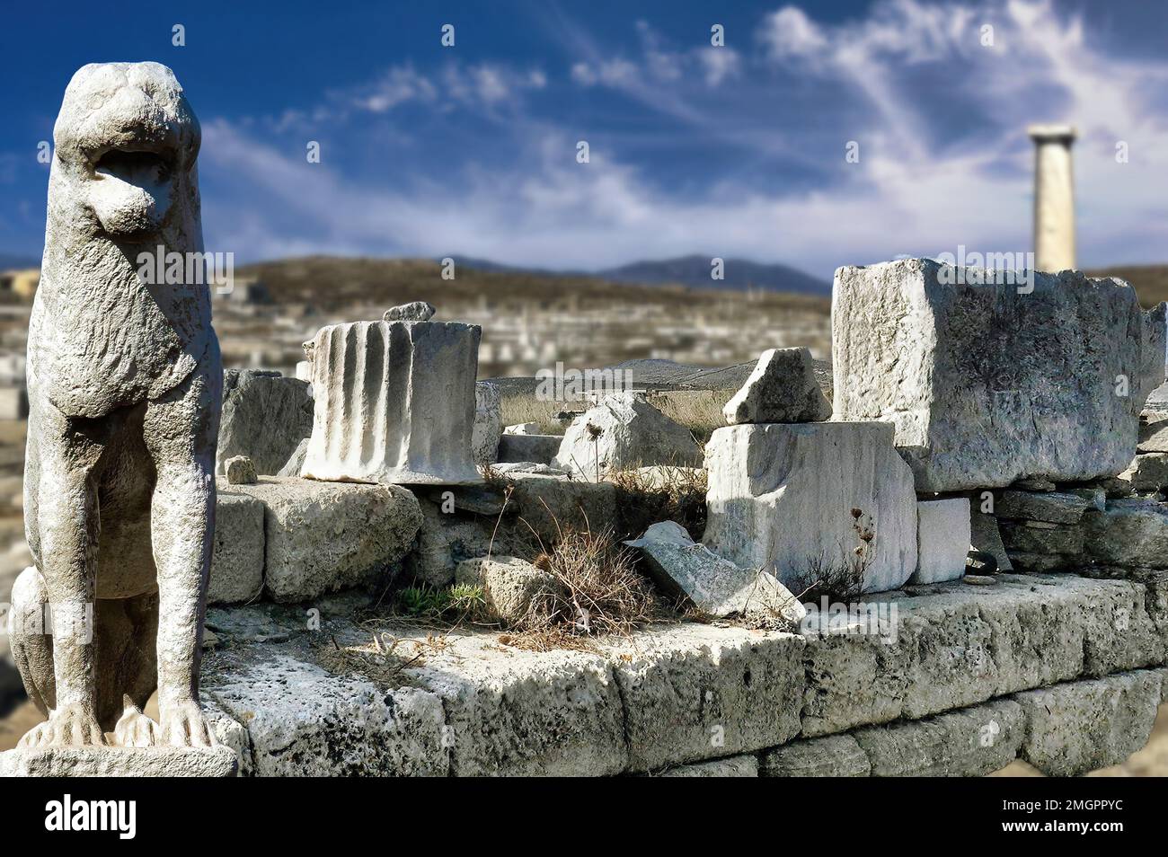
[[[924,720],[853,732],[872,776],[985,776],[1017,757],[1022,706],[993,701]]]

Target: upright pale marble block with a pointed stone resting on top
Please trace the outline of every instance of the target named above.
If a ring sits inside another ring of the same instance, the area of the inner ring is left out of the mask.
[[[825,569],[881,592],[917,567],[917,496],[890,425],[726,426],[710,438],[705,466],[705,544],[793,592]]]

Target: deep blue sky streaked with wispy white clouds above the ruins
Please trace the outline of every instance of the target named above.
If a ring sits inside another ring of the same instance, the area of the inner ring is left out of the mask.
[[[1068,121],[1080,265],[1164,263],[1166,6],[9,4],[0,252],[40,253],[36,145],[72,72],[153,60],[203,126],[207,248],[237,259],[589,269],[696,252],[827,278],[958,244],[1024,251],[1026,126]]]

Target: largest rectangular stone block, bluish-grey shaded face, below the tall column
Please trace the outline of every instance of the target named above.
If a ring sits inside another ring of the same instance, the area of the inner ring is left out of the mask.
[[[1164,378],[1164,307],[1141,312],[1122,280],[1079,271],[986,273],[930,259],[836,271],[835,418],[895,425],[922,492],[1122,472]]]

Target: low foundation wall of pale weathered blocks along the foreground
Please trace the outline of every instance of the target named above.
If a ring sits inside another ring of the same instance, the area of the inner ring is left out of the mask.
[[[683,622],[595,652],[357,626],[352,598],[314,605],[319,630],[303,608],[213,608],[227,645],[203,695],[255,775],[980,775],[1015,758],[1078,774],[1142,746],[1168,677],[1163,599],[996,580],[865,598],[883,636]],[[347,647],[363,654],[339,661]]]

